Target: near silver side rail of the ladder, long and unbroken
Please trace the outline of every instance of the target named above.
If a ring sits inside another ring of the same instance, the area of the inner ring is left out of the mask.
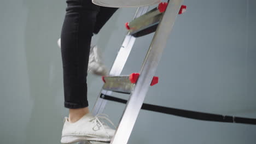
[[[148,92],[150,82],[155,74],[162,51],[166,47],[168,36],[170,35],[182,3],[183,0],[172,0],[168,4],[144,60],[141,75],[139,76],[133,92],[126,104],[125,111],[110,144],[128,142],[131,131],[138,117],[139,110],[141,110],[141,106]]]

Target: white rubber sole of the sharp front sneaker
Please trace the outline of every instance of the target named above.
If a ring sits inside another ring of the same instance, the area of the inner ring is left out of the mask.
[[[63,136],[61,137],[61,143],[74,143],[79,141],[101,141],[101,142],[110,142],[111,139],[104,137],[92,137],[92,136]]]

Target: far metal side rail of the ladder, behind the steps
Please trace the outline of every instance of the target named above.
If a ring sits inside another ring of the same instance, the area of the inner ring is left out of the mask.
[[[133,19],[136,19],[137,17],[147,13],[148,9],[149,9],[148,6],[137,8],[136,13],[133,16]],[[130,55],[132,46],[133,46],[133,44],[135,43],[135,40],[136,40],[136,38],[133,37],[132,35],[130,35],[129,33],[127,33],[127,35],[124,38],[124,42],[120,47],[120,50],[118,52],[117,57],[115,58],[115,61],[112,65],[112,68],[110,69],[109,75],[112,75],[112,76],[120,75],[121,71],[124,68],[124,65],[127,61],[127,58]],[[98,95],[98,98],[96,100],[94,108],[92,109],[92,114],[93,115],[97,115],[97,113],[102,113],[106,104],[107,104],[107,100],[102,99],[100,97],[101,93],[106,94],[106,95],[110,95],[112,93],[112,91],[106,91],[104,89],[101,89],[101,92]]]

